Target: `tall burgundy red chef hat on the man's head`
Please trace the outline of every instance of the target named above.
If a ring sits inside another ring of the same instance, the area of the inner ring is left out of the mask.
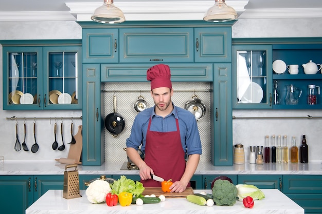
[[[172,88],[170,67],[158,64],[148,69],[147,80],[151,81],[151,90],[154,88]]]

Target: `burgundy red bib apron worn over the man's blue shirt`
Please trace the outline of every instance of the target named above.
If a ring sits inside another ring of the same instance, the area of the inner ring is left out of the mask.
[[[145,162],[156,176],[164,180],[180,181],[186,168],[185,152],[182,149],[178,119],[175,119],[176,131],[150,131],[148,125]],[[141,180],[144,187],[161,187],[161,182]],[[190,183],[188,184],[190,187]]]

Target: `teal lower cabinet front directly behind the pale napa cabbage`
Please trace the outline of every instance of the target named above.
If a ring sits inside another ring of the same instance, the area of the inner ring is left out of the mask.
[[[269,175],[238,175],[238,184],[251,184],[260,189],[279,189],[283,191],[283,176]]]

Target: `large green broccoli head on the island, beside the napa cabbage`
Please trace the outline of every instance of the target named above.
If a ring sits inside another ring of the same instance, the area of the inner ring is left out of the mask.
[[[212,187],[213,201],[216,205],[232,206],[237,200],[237,188],[227,180],[217,180]]]

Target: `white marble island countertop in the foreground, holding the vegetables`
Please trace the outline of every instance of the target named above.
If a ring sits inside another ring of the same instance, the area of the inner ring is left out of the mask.
[[[201,190],[194,190],[200,192]],[[144,204],[137,206],[109,207],[105,203],[91,204],[88,202],[85,190],[81,190],[81,198],[65,199],[63,190],[48,190],[41,198],[35,201],[26,209],[26,214],[101,214],[101,213],[127,213],[127,214],[144,214],[144,213],[239,213],[239,214],[304,214],[304,209],[293,202],[277,189],[262,189],[265,194],[263,200],[256,200],[252,209],[245,208],[241,201],[237,201],[233,206],[200,206],[182,199],[166,199],[158,204]],[[206,190],[210,193],[210,190]]]

